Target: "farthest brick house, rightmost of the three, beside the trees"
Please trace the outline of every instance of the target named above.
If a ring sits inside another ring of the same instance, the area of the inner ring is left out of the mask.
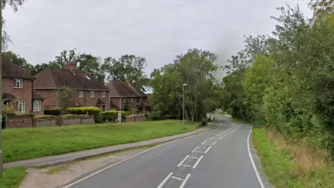
[[[148,96],[131,84],[128,79],[126,81],[111,81],[106,86],[110,90],[110,109],[122,110],[126,103],[139,111],[148,109]]]

